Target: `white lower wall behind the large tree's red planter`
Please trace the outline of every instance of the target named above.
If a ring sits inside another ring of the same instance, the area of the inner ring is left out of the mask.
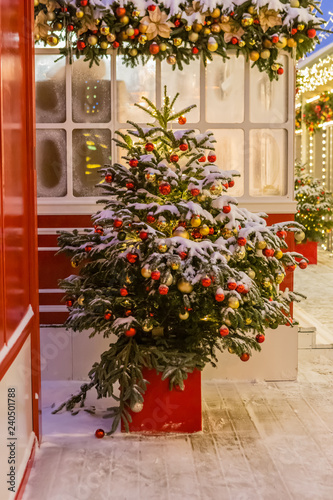
[[[86,380],[87,373],[110,339],[64,328],[41,329],[42,380]],[[297,378],[297,328],[267,330],[262,352],[243,362],[228,352],[219,355],[217,368],[207,366],[203,379],[295,380]]]

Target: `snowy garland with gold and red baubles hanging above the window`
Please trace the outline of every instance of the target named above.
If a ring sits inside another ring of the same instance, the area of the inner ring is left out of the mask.
[[[317,0],[34,0],[35,39],[61,54],[99,64],[108,49],[128,66],[151,57],[173,67],[213,53],[245,55],[271,79],[283,74],[281,50],[301,58],[324,23]],[[319,11],[320,12],[320,11]]]

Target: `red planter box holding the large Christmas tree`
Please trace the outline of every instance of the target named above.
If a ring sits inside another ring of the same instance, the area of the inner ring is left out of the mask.
[[[150,383],[144,394],[143,409],[130,411],[130,432],[199,432],[201,419],[201,372],[194,370],[185,380],[184,391],[169,389],[169,380],[161,380],[155,370],[143,370],[144,379]],[[122,432],[125,427],[122,423]]]

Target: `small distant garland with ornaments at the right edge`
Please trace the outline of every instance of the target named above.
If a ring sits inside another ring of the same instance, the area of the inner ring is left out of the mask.
[[[333,120],[333,94],[323,92],[317,101],[309,102],[302,109],[296,111],[296,130],[302,128],[302,122],[305,123],[310,134],[317,132],[320,127]]]

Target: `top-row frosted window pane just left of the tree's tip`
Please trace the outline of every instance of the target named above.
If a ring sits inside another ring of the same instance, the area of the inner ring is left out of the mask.
[[[118,121],[126,123],[127,120],[147,123],[151,117],[141,111],[134,104],[145,102],[142,96],[155,102],[155,62],[148,61],[135,68],[127,68],[122,64],[122,57],[117,57],[117,113]]]

